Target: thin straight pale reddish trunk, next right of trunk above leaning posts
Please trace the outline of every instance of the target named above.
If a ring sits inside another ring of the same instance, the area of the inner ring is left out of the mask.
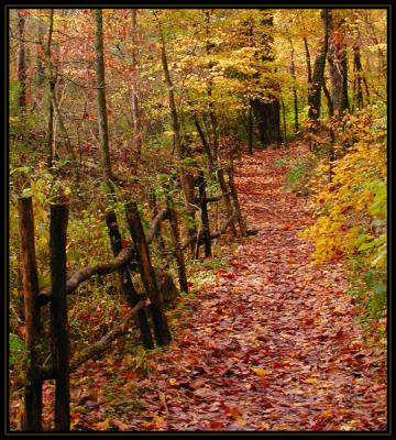
[[[141,116],[138,98],[138,10],[132,9],[132,52],[131,52],[131,67],[132,67],[132,116],[133,116],[133,151],[136,156],[136,162],[140,161],[142,154],[142,128]]]

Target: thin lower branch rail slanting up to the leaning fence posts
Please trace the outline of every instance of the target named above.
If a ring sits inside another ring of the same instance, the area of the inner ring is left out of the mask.
[[[132,318],[138,314],[138,311],[145,306],[150,305],[150,299],[145,299],[139,301],[133,309],[131,309],[125,317],[123,318],[122,322],[116,326],[112,330],[103,336],[98,342],[95,342],[92,345],[88,346],[86,350],[80,353],[78,358],[72,361],[70,363],[70,372],[76,371],[84,362],[87,362],[92,356],[102,353],[110,345],[112,341],[117,338],[125,334],[128,332],[129,327],[131,326]]]

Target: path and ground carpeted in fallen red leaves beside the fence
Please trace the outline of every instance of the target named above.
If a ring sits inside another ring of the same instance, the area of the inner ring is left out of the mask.
[[[183,299],[172,344],[142,358],[144,377],[121,352],[73,375],[74,429],[386,429],[386,348],[365,341],[343,264],[310,263],[312,249],[298,237],[312,221],[308,198],[283,189],[279,164],[306,150],[243,157],[235,182],[249,228],[260,232],[231,246],[229,266]]]

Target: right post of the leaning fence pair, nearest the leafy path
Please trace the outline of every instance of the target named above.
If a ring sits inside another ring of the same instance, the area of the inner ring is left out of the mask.
[[[141,218],[136,202],[132,201],[125,206],[127,222],[131,232],[132,240],[136,246],[140,261],[140,271],[144,288],[151,299],[150,310],[154,322],[155,339],[158,345],[164,345],[172,340],[172,334],[162,311],[160,302],[160,292],[155,279],[155,273],[150,261],[148,246],[144,235]]]

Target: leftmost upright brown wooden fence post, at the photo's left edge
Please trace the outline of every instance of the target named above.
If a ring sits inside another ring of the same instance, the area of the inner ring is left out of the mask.
[[[38,276],[34,245],[34,217],[32,198],[20,198],[19,229],[21,237],[22,283],[26,322],[28,371],[24,388],[24,414],[22,429],[42,431],[42,378],[37,371],[37,343],[40,339]]]

